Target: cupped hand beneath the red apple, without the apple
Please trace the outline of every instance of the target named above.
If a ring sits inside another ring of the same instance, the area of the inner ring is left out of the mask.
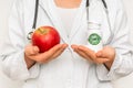
[[[34,63],[48,63],[59,55],[68,47],[68,44],[57,44],[44,53],[39,53],[39,47],[32,44],[27,45],[24,48],[24,59],[27,67],[30,68]]]

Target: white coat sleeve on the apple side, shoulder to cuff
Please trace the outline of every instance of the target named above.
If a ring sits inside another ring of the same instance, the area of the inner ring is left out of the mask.
[[[9,18],[8,40],[3,41],[0,50],[3,73],[16,80],[38,77],[40,66],[35,64],[28,69],[24,62],[24,47],[28,40],[24,34],[23,15],[23,0],[17,0]]]

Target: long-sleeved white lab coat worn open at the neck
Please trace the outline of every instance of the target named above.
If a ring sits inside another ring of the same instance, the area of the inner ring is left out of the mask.
[[[3,72],[12,79],[24,80],[23,88],[112,88],[111,80],[133,70],[133,58],[123,4],[121,0],[105,1],[114,34],[109,45],[116,50],[110,72],[103,64],[96,65],[83,59],[70,46],[52,62],[41,65],[37,63],[28,70],[23,50],[29,44],[27,34],[32,31],[35,0],[17,0],[13,4],[9,19],[9,40],[3,43],[0,53]],[[101,24],[105,45],[111,33],[101,0],[90,0],[89,13],[90,22]],[[85,0],[82,0],[79,12],[75,14],[69,36],[54,10],[54,2],[40,0],[37,28],[42,25],[54,26],[61,35],[61,43],[86,45]]]

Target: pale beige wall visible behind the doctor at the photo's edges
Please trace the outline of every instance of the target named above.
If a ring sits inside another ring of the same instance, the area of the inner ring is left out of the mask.
[[[0,44],[4,40],[7,32],[7,20],[11,4],[14,0],[0,0]],[[123,0],[127,12],[131,29],[131,37],[133,37],[133,0]],[[133,40],[131,38],[132,43]],[[133,88],[133,74],[121,78],[113,82],[115,88]],[[21,88],[21,82],[12,81],[3,75],[0,67],[0,88]]]

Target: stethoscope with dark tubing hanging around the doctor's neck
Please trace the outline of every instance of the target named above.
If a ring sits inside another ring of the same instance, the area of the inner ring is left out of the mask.
[[[104,10],[105,10],[105,13],[106,13],[106,19],[108,19],[108,23],[109,23],[109,29],[110,29],[110,37],[108,38],[108,42],[105,44],[110,44],[111,43],[111,40],[113,38],[113,31],[111,29],[111,22],[110,22],[110,18],[109,18],[109,10],[108,10],[108,6],[106,6],[106,2],[105,0],[102,0],[102,3],[104,6]],[[90,2],[89,0],[86,0],[86,21],[88,21],[88,24],[89,24],[89,6],[90,6]],[[39,8],[39,0],[35,0],[35,9],[34,9],[34,19],[33,19],[33,24],[32,24],[32,31],[28,33],[28,36],[27,38],[28,40],[31,40],[31,36],[32,36],[32,33],[33,31],[35,30],[35,26],[37,26],[37,19],[38,19],[38,9]]]

